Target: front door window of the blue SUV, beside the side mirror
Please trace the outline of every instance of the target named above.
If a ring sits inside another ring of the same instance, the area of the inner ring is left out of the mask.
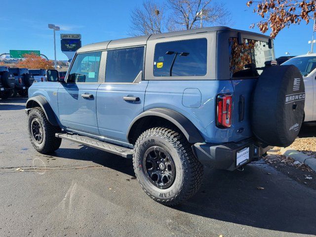
[[[98,82],[101,52],[80,53],[69,72],[68,83]]]

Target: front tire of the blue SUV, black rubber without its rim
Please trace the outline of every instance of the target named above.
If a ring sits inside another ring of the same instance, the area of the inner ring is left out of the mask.
[[[42,128],[42,141],[38,143],[32,135],[32,121],[37,119]],[[40,107],[32,108],[27,119],[27,126],[30,141],[39,153],[47,154],[56,151],[61,144],[61,138],[55,137],[56,132],[61,132],[60,127],[53,126],[47,120],[43,110]]]

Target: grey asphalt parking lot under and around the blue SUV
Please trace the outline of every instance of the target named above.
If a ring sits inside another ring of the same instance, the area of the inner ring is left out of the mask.
[[[129,159],[68,141],[37,153],[25,102],[0,100],[0,237],[316,234],[316,191],[263,160],[242,172],[207,168],[195,197],[166,207],[146,196]]]

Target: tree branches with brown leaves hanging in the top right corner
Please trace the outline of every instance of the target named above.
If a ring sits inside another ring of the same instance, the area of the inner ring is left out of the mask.
[[[271,29],[271,37],[276,35],[285,27],[291,24],[300,24],[305,21],[307,24],[311,18],[316,17],[316,0],[260,0],[248,1],[247,6],[257,3],[253,12],[263,18],[256,25],[262,33]],[[250,28],[254,28],[252,24]]]

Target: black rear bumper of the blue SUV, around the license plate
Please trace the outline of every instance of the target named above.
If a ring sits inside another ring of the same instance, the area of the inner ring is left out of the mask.
[[[247,148],[249,148],[249,158],[237,164],[237,153]],[[193,145],[195,156],[203,165],[226,170],[235,170],[245,163],[258,159],[271,148],[271,146],[262,147],[253,138],[237,143],[196,143]]]

